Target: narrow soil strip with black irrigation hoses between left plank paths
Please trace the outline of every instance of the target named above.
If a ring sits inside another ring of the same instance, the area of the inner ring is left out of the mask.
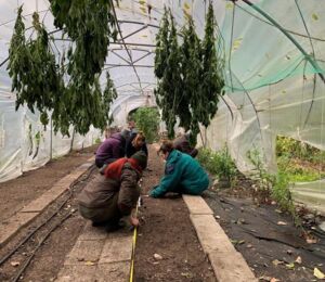
[[[98,170],[92,166],[87,174],[74,182],[75,184],[68,191],[49,205],[41,215],[26,228],[22,229],[0,249],[0,258],[2,259],[41,226],[4,264],[1,264],[0,281],[12,281],[15,277],[20,281],[54,280],[63,267],[66,255],[75,245],[77,238],[86,225],[86,221],[78,215],[78,205],[75,196],[91,181],[94,174],[98,174]],[[52,217],[52,215],[55,216]],[[48,233],[50,233],[48,239],[35,251]],[[34,254],[35,256],[32,257]],[[18,275],[21,268],[31,257],[32,259],[26,270],[22,275]],[[14,266],[13,264],[16,265]]]

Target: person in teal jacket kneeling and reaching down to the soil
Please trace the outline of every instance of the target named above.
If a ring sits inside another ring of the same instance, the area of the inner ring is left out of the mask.
[[[165,176],[152,190],[152,197],[161,197],[167,192],[199,195],[208,189],[207,172],[192,156],[176,150],[172,142],[164,141],[158,153],[166,159]]]

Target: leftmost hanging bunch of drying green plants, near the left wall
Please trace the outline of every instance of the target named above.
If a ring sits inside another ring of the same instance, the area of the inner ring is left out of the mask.
[[[32,14],[36,39],[26,40],[25,25],[20,7],[14,34],[9,49],[9,75],[12,78],[12,91],[16,91],[16,110],[27,104],[34,113],[35,106],[41,113],[41,121],[49,121],[47,111],[53,108],[55,97],[62,93],[62,77],[57,73],[55,56],[50,51],[48,33],[39,22],[39,15]]]

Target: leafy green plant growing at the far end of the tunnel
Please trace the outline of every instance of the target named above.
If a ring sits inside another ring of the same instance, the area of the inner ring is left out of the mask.
[[[153,143],[158,136],[159,113],[156,107],[140,107],[133,114],[136,127],[143,131],[146,142]]]

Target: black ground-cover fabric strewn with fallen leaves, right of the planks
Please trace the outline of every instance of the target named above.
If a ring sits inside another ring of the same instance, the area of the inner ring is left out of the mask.
[[[325,234],[311,233],[310,239],[317,243],[309,244],[307,230],[296,228],[291,217],[282,214],[276,205],[256,205],[251,197],[235,194],[231,189],[209,190],[204,197],[257,278],[306,282],[316,281],[315,267],[325,272]]]

